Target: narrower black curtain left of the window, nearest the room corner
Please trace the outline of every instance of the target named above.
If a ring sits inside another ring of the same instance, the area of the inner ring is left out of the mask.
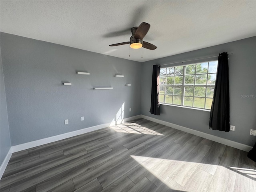
[[[160,115],[159,74],[160,74],[160,65],[153,65],[152,87],[151,87],[151,107],[149,112],[155,115]]]

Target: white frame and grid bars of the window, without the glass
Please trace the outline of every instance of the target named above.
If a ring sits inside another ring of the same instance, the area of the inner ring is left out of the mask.
[[[186,65],[182,65],[182,67],[183,67],[183,74],[182,74],[182,84],[174,84],[174,82],[173,82],[173,84],[172,85],[167,85],[167,77],[174,77],[174,80],[173,81],[175,81],[175,76],[180,76],[180,75],[175,75],[175,71],[174,71],[174,75],[173,76],[167,76],[167,72],[166,72],[166,74],[164,75],[164,76],[161,76],[161,74],[160,74],[160,79],[161,79],[161,77],[165,77],[166,78],[166,83],[165,84],[160,84],[160,88],[161,87],[164,87],[164,94],[162,94],[161,93],[161,90],[160,90],[160,93],[159,93],[159,95],[161,96],[161,95],[164,95],[164,100],[163,100],[163,102],[161,102],[161,100],[160,100],[160,104],[164,104],[164,105],[172,105],[172,106],[184,106],[184,107],[187,107],[187,108],[195,108],[195,109],[201,109],[201,110],[210,110],[210,108],[206,108],[207,106],[206,106],[206,100],[207,99],[212,99],[212,97],[208,97],[207,96],[207,88],[215,88],[215,84],[213,85],[213,84],[208,84],[208,76],[209,76],[209,74],[216,74],[216,72],[209,72],[209,63],[210,62],[217,62],[217,67],[218,67],[218,60],[211,60],[211,61],[206,61],[206,62],[197,62],[197,63],[190,63],[190,64],[186,64]],[[200,73],[200,74],[196,74],[196,69],[195,69],[195,73],[194,74],[186,74],[185,72],[186,72],[186,66],[188,66],[188,65],[197,65],[197,64],[202,64],[202,63],[208,63],[208,69],[207,69],[207,72],[205,72],[205,73]],[[163,68],[161,68],[161,69],[166,69],[166,68],[175,68],[175,67],[181,67],[181,66],[169,66],[169,67],[163,67]],[[189,75],[194,75],[194,84],[193,85],[190,85],[190,84],[185,84],[185,78],[186,78],[186,76],[189,76]],[[196,84],[196,75],[206,75],[206,84]],[[216,79],[215,79],[215,81],[216,81]],[[167,87],[172,87],[172,94],[170,95],[170,94],[166,94],[166,88]],[[174,87],[181,87],[181,95],[178,95],[178,96],[180,96],[181,97],[181,104],[174,104],[173,102],[174,102],[174,96],[177,96],[177,95],[174,95]],[[194,92],[193,92],[193,96],[185,96],[184,95],[184,91],[185,91],[185,87],[194,87]],[[205,95],[204,95],[204,97],[202,97],[202,96],[195,96],[195,87],[205,87]],[[212,90],[213,92],[214,92],[214,90]],[[170,95],[170,96],[172,96],[172,103],[170,104],[170,103],[166,103],[166,96],[168,96],[168,95]],[[185,97],[191,97],[192,98],[192,106],[188,106],[188,105],[184,105],[184,98]],[[196,107],[196,106],[194,106],[194,98],[204,98],[204,108],[201,108],[201,107]]]

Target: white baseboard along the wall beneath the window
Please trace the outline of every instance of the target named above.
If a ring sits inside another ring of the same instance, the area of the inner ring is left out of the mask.
[[[147,119],[147,120],[150,120],[150,121],[153,121],[153,122],[156,122],[156,123],[168,126],[168,127],[172,127],[172,128],[175,128],[175,129],[178,129],[178,130],[181,130],[181,131],[184,131],[184,132],[196,135],[196,136],[200,136],[202,138],[206,138],[206,139],[209,139],[209,140],[212,140],[212,141],[215,141],[215,142],[218,142],[218,143],[230,146],[230,147],[234,147],[234,148],[246,151],[246,152],[248,152],[252,149],[252,146],[248,146],[248,145],[245,145],[245,144],[242,144],[242,143],[238,143],[238,142],[235,142],[235,141],[231,141],[231,140],[228,140],[228,139],[224,139],[224,138],[221,138],[221,137],[210,135],[210,134],[207,134],[207,133],[204,133],[204,132],[200,132],[200,131],[197,131],[197,130],[186,128],[186,127],[183,127],[183,126],[180,126],[180,125],[176,125],[176,124],[173,124],[173,123],[162,121],[162,120],[152,118],[152,117],[149,117],[149,116],[141,115],[141,118],[144,118],[144,119]]]

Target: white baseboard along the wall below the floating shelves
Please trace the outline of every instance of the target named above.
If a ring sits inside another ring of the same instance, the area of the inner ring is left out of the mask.
[[[26,149],[29,149],[32,147],[48,144],[51,142],[70,138],[70,137],[77,136],[80,134],[99,130],[99,129],[106,128],[106,127],[114,125],[114,124],[120,124],[122,122],[134,120],[137,118],[140,118],[140,115],[132,116],[132,117],[124,118],[122,120],[117,120],[117,121],[113,121],[113,122],[109,122],[109,123],[105,123],[105,124],[100,124],[100,125],[96,125],[96,126],[92,126],[92,127],[88,127],[88,128],[84,128],[84,129],[80,129],[80,130],[76,130],[76,131],[72,131],[72,132],[68,132],[68,133],[64,133],[64,134],[60,134],[60,135],[56,135],[56,136],[52,136],[52,137],[48,137],[48,138],[44,138],[44,139],[40,139],[40,140],[36,140],[36,141],[31,141],[31,142],[23,143],[20,145],[15,145],[15,146],[12,146],[12,152],[14,153],[14,152],[26,150]]]

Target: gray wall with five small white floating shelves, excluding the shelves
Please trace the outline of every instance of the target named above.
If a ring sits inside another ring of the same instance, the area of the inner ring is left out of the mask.
[[[140,62],[6,33],[1,50],[12,146],[141,114]]]

